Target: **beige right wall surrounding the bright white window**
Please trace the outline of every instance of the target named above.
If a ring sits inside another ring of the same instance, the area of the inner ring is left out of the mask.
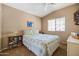
[[[78,9],[78,4],[57,10],[55,12],[52,12],[51,14],[45,16],[42,18],[42,31],[47,34],[56,34],[60,36],[60,39],[66,40],[70,33],[79,31],[79,25],[74,25],[74,12]],[[48,25],[47,21],[56,17],[66,17],[66,29],[65,32],[49,32],[48,31]]]

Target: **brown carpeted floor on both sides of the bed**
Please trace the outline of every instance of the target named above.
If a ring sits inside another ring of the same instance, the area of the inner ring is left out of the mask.
[[[5,50],[1,52],[0,55],[2,56],[35,56],[34,53],[29,51],[24,46],[19,46],[17,48],[10,49],[10,50]],[[66,56],[66,55],[67,55],[67,48],[62,48],[61,46],[53,54],[53,56]]]

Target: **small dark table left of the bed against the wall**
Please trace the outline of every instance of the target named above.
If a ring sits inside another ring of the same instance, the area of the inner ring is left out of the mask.
[[[8,47],[9,47],[9,49],[23,45],[22,40],[23,40],[22,35],[16,35],[16,36],[8,37]]]

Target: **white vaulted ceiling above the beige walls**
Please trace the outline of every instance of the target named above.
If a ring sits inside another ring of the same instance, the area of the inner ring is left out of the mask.
[[[25,11],[35,16],[44,17],[51,12],[72,4],[73,3],[6,3],[5,5]]]

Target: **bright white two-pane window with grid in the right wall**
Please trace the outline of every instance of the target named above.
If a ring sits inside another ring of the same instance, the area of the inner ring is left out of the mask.
[[[65,17],[48,20],[48,31],[65,31]]]

